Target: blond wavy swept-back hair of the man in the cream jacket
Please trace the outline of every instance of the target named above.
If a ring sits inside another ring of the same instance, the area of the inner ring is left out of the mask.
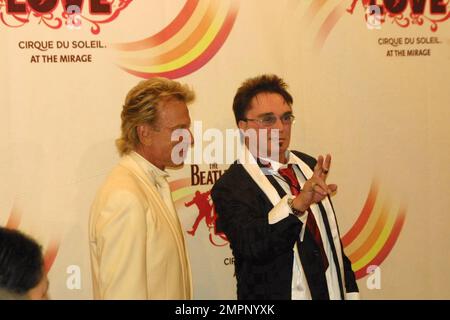
[[[122,133],[116,140],[121,156],[138,146],[137,127],[144,123],[155,125],[157,107],[170,99],[188,104],[194,101],[195,93],[187,85],[166,78],[141,81],[128,92],[121,113]]]

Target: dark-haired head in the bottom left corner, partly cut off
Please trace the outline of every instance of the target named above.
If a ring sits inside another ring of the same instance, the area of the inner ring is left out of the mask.
[[[25,294],[44,273],[39,244],[23,233],[0,227],[0,288]]]

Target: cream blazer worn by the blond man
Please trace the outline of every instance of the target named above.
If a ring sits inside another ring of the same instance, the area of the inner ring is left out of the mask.
[[[178,216],[130,156],[95,197],[89,242],[95,299],[192,299]]]

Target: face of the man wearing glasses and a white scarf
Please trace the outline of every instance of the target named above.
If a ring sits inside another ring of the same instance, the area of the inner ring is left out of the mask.
[[[292,108],[286,103],[284,98],[278,93],[262,92],[256,95],[251,103],[250,108],[247,111],[247,119],[256,119],[248,121],[239,121],[239,128],[244,132],[248,129],[256,130],[257,143],[258,143],[258,153],[261,155],[261,145],[267,145],[267,155],[272,159],[277,159],[281,162],[285,161],[285,151],[289,147],[291,140],[291,123],[283,123],[281,119],[292,115]],[[276,122],[272,125],[267,125],[267,119],[276,118]],[[258,121],[261,120],[261,121]],[[266,120],[266,121],[264,121]],[[264,124],[266,123],[266,124]],[[267,134],[260,135],[259,132],[265,129]],[[278,133],[279,141],[279,154],[271,154],[271,142],[274,142],[277,138],[276,133]],[[261,141],[264,139],[264,141]],[[251,143],[251,142],[250,142]],[[249,146],[251,148],[251,146]]]

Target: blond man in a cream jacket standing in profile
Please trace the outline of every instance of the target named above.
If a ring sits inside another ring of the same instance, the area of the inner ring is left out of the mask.
[[[140,82],[126,97],[117,140],[122,159],[98,191],[89,221],[95,299],[192,299],[164,170],[182,164],[186,148],[172,154],[178,143],[172,133],[181,129],[192,138],[187,103],[193,99],[187,86],[163,78]]]

